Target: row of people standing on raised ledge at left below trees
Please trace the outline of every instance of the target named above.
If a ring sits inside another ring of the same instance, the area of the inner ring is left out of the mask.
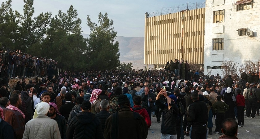
[[[52,79],[58,74],[57,61],[22,53],[21,50],[0,49],[0,84],[9,83],[13,78],[43,77]]]

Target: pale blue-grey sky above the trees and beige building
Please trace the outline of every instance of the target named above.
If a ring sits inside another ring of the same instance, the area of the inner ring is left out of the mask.
[[[66,12],[70,5],[73,5],[78,12],[78,17],[82,20],[81,26],[85,34],[90,33],[86,24],[87,15],[90,15],[92,21],[97,22],[98,13],[107,12],[109,18],[114,20],[117,36],[142,37],[144,36],[145,12],[160,12],[162,7],[174,9],[173,7],[178,5],[187,5],[187,2],[201,3],[202,1],[205,0],[34,0],[33,7],[34,16],[47,11],[54,16],[59,10]],[[23,0],[13,0],[12,9],[23,13],[23,5]]]

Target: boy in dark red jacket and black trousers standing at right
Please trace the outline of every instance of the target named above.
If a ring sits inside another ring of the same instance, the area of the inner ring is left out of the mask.
[[[237,107],[237,119],[238,127],[244,127],[244,108],[245,108],[245,97],[241,95],[241,90],[237,90],[236,96],[236,107]],[[241,125],[242,122],[242,125]]]

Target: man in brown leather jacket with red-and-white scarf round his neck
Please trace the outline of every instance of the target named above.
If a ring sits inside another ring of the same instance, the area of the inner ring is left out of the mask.
[[[21,106],[22,100],[18,94],[13,94],[10,97],[10,105],[3,108],[3,114],[5,121],[9,123],[15,132],[15,137],[17,139],[22,139],[24,134],[24,113],[18,108]]]

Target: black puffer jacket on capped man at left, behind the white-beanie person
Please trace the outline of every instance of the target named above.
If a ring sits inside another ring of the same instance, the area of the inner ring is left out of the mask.
[[[21,99],[25,103],[28,118],[31,119],[30,116],[33,115],[33,110],[34,110],[33,97],[30,97],[28,92],[23,91],[21,92]]]

